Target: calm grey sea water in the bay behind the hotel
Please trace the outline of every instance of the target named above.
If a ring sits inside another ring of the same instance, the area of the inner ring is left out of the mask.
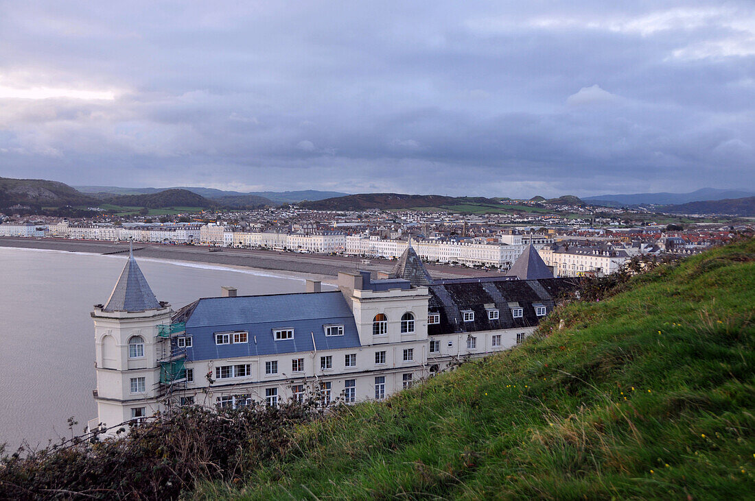
[[[127,255],[0,247],[0,444],[6,454],[23,441],[32,447],[70,437],[67,419],[97,417],[92,397],[94,324]],[[304,292],[304,279],[270,271],[139,258],[137,263],[160,301],[174,310],[220,295]]]

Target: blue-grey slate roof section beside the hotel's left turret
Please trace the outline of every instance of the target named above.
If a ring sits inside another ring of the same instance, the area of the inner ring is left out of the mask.
[[[193,337],[187,355],[193,360],[360,346],[351,308],[338,291],[203,298],[179,310],[173,321],[186,322],[186,335]],[[344,325],[344,335],[325,336],[325,325]],[[293,328],[294,338],[275,341],[278,328]],[[228,331],[248,332],[248,342],[215,344],[214,335]]]

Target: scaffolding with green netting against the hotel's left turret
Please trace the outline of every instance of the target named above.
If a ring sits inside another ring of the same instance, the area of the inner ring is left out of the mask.
[[[186,322],[157,325],[156,338],[160,343],[157,362],[160,367],[159,398],[167,412],[180,405],[180,393],[186,389],[186,347],[178,346],[178,338],[185,335]]]

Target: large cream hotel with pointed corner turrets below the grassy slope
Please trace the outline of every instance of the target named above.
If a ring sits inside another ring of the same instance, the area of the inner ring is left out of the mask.
[[[393,273],[340,273],[334,291],[236,296],[179,310],[155,298],[133,254],[97,304],[94,430],[180,405],[381,400],[532,334],[575,283],[528,247],[509,276],[433,280],[408,247]]]

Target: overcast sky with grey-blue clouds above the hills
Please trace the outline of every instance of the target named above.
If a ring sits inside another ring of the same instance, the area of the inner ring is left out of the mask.
[[[753,189],[753,148],[752,0],[0,0],[0,176]]]

